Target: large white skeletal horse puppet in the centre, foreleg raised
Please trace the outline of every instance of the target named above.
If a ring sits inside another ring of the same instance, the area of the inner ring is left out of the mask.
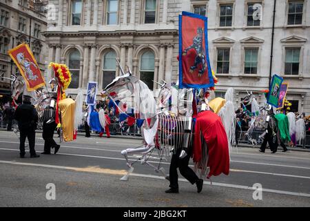
[[[123,72],[123,70],[121,69]],[[168,92],[168,88],[165,84],[161,85],[160,97],[167,99],[171,94]],[[161,162],[167,160],[170,151],[176,150],[183,140],[183,123],[180,117],[176,115],[169,115],[164,113],[162,106],[156,106],[156,100],[151,90],[147,85],[138,79],[138,77],[129,73],[116,77],[112,83],[107,85],[101,92],[103,96],[109,96],[110,99],[116,104],[116,100],[125,102],[126,104],[132,104],[135,116],[139,119],[145,119],[141,126],[141,133],[143,135],[143,144],[136,148],[127,148],[121,151],[121,154],[125,157],[129,170],[127,175],[124,175],[121,180],[128,180],[130,173],[134,171],[132,166],[136,162],[141,164],[147,164],[151,166],[156,172],[161,172],[166,179],[169,179],[169,175],[165,173]],[[105,124],[104,120],[101,121],[101,126]],[[154,166],[148,160],[152,153],[158,153],[158,166]],[[130,162],[128,155],[133,153],[141,153],[141,157],[138,160]]]

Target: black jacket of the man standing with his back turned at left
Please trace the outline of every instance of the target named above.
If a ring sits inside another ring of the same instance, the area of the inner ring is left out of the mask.
[[[19,122],[19,130],[35,130],[37,128],[38,113],[31,103],[23,102],[15,111],[14,119]]]

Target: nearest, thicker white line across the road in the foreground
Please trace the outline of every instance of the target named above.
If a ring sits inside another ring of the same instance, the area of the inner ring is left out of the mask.
[[[4,161],[0,160],[1,164],[13,164],[13,165],[22,165],[22,166],[40,166],[45,168],[51,168],[51,169],[65,169],[65,170],[74,170],[76,171],[76,168],[74,167],[68,167],[68,166],[55,166],[55,165],[49,165],[49,164],[33,164],[33,163],[23,163],[23,162],[13,162],[13,161]],[[88,172],[89,173],[89,172]],[[136,177],[147,177],[147,178],[153,178],[158,180],[165,180],[165,177],[157,176],[157,175],[146,175],[146,174],[140,174],[140,173],[131,173],[130,175],[136,176]],[[179,179],[182,182],[188,182],[185,179]],[[205,185],[211,185],[211,186],[223,186],[223,187],[230,187],[235,189],[245,189],[249,191],[253,191],[253,187],[251,186],[242,186],[242,185],[236,185],[236,184],[224,184],[219,182],[209,182],[205,181]],[[291,191],[279,191],[275,189],[262,189],[262,191],[269,192],[269,193],[278,193],[278,194],[284,194],[284,195],[296,195],[296,196],[302,196],[310,198],[310,194],[308,193],[296,193]]]

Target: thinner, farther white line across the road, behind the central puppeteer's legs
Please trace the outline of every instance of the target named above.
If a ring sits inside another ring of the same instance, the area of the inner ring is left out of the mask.
[[[19,151],[16,149],[10,149],[10,148],[0,148],[0,150],[3,151]],[[26,151],[29,152],[29,151]],[[73,153],[57,153],[57,155],[68,155],[68,156],[75,156],[75,157],[92,157],[92,158],[99,158],[99,159],[106,159],[106,160],[125,160],[124,158],[118,158],[118,157],[101,157],[101,156],[95,156],[95,155],[81,155],[81,154],[73,154]],[[128,156],[131,158],[134,158],[135,160],[138,159],[138,157],[134,156]],[[158,161],[148,161],[150,163],[158,164]],[[169,162],[161,162],[161,164],[167,164],[169,165]],[[194,167],[192,165],[189,165],[190,167]],[[269,173],[269,172],[261,172],[261,171],[245,171],[245,170],[238,170],[238,169],[230,169],[231,172],[243,172],[243,173],[260,173],[265,175],[278,175],[282,177],[296,177],[301,179],[310,179],[310,177],[306,176],[299,176],[299,175],[290,175],[290,174],[283,174],[283,173]]]

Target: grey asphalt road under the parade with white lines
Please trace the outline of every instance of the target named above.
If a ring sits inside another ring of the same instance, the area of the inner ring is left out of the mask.
[[[310,153],[234,149],[228,176],[212,177],[212,184],[205,180],[198,194],[180,175],[180,193],[171,195],[165,193],[169,182],[147,165],[134,164],[130,180],[120,180],[127,170],[121,150],[140,144],[78,136],[63,142],[56,155],[30,158],[27,152],[21,159],[16,135],[0,131],[0,206],[310,206]],[[41,134],[36,150],[43,151]],[[156,154],[152,162],[157,165]],[[163,167],[169,171],[169,159]],[[50,183],[56,200],[46,198]],[[253,198],[256,183],[262,185],[262,200]]]

